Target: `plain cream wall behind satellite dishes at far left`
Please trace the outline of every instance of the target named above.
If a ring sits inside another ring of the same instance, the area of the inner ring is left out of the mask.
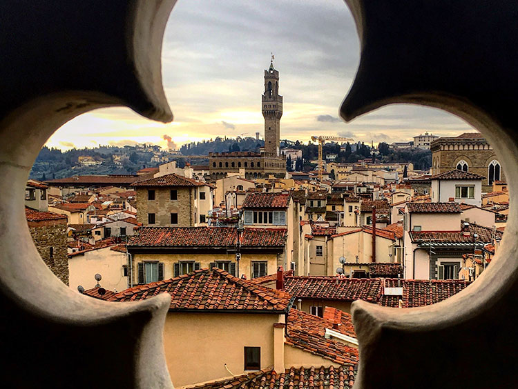
[[[83,255],[68,258],[70,288],[77,290],[81,285],[85,289],[94,288],[97,281],[95,275],[102,275],[99,284],[108,290],[120,292],[128,288],[128,277],[124,277],[122,266],[126,265],[126,255],[123,252],[100,248],[87,251]]]

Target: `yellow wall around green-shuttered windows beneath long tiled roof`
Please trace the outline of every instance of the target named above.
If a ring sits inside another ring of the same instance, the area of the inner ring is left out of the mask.
[[[231,248],[233,249],[233,248]],[[140,254],[133,255],[133,282],[137,282],[137,263],[143,261],[158,261],[164,263],[164,279],[174,277],[173,264],[179,261],[194,261],[200,262],[200,268],[209,268],[211,262],[215,261],[231,261],[236,262],[235,252],[178,252],[175,254]],[[274,274],[277,271],[277,254],[275,252],[261,252],[259,249],[253,253],[242,252],[239,263],[239,277],[246,275],[247,279],[251,279],[251,263],[253,261],[267,261],[268,274]],[[237,271],[237,266],[236,266]]]

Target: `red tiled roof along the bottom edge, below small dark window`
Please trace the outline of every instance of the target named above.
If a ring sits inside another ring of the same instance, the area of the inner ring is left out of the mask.
[[[186,389],[352,389],[353,366],[288,368],[285,372],[260,370],[219,379]]]

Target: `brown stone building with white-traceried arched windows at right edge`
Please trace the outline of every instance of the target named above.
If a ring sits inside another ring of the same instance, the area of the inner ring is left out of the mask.
[[[482,192],[491,192],[494,181],[505,181],[502,166],[495,151],[479,132],[469,132],[458,137],[441,137],[431,144],[432,174],[457,168],[479,174]]]

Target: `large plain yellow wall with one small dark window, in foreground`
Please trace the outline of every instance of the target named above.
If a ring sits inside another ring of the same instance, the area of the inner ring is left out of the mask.
[[[167,367],[175,387],[244,373],[244,346],[261,348],[261,368],[274,365],[274,323],[284,315],[169,312]]]

